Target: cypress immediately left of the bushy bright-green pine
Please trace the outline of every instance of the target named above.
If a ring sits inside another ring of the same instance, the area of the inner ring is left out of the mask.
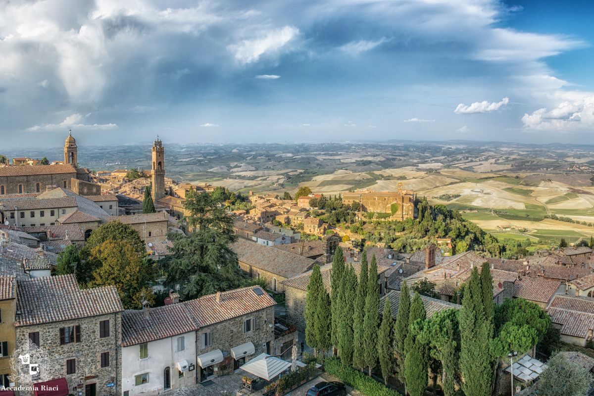
[[[425,320],[426,313],[421,295],[415,293],[410,303],[409,332],[405,341],[406,389],[410,396],[422,396],[428,385],[427,346],[413,330],[413,324],[418,319]]]

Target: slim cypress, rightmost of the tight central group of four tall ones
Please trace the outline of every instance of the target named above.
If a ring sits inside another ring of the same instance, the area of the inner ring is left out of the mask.
[[[365,297],[365,319],[363,321],[365,366],[369,368],[369,376],[371,376],[371,369],[375,367],[378,358],[377,326],[379,320],[380,287],[377,284],[377,262],[375,262],[375,255],[373,255],[371,265],[369,265],[367,296]]]

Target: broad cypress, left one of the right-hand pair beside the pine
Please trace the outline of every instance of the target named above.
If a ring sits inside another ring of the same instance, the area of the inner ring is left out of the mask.
[[[491,294],[492,300],[492,294]],[[483,290],[475,267],[466,282],[460,319],[460,371],[462,390],[467,395],[489,396],[494,375],[493,357],[489,351],[492,325],[486,321]]]

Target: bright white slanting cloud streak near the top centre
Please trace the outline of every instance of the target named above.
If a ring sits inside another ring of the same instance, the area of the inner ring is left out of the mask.
[[[258,61],[264,53],[279,51],[298,34],[298,28],[285,26],[281,29],[269,30],[259,39],[242,40],[239,44],[229,45],[227,49],[235,52],[235,59],[245,65]]]

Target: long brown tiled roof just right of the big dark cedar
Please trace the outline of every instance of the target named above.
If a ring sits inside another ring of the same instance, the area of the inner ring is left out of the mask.
[[[314,260],[307,257],[241,238],[232,243],[230,247],[238,255],[239,261],[283,278],[302,274],[315,264]]]

